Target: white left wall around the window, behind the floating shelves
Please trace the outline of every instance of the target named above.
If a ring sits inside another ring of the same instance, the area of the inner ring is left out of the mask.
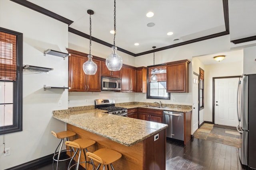
[[[52,118],[52,110],[68,108],[68,92],[43,90],[47,86],[68,86],[68,60],[47,55],[46,49],[66,52],[68,25],[9,0],[0,0],[0,27],[23,33],[23,64],[54,68],[46,73],[23,74],[23,131],[5,135],[11,155],[4,156],[0,136],[0,170],[49,154],[58,145],[51,131],[62,131],[65,123]],[[58,101],[62,106],[58,107]]]

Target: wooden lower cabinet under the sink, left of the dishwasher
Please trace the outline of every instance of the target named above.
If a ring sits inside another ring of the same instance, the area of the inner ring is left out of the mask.
[[[163,122],[163,111],[158,109],[138,108],[138,119]]]

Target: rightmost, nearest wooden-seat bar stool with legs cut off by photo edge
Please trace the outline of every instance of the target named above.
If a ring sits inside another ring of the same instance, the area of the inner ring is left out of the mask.
[[[112,163],[120,159],[122,157],[122,154],[112,149],[102,148],[102,149],[96,150],[93,153],[87,152],[86,156],[100,163],[96,170],[100,168],[101,164],[103,164],[103,170],[105,170],[105,165],[109,169],[108,167],[109,164],[112,170],[114,170]]]

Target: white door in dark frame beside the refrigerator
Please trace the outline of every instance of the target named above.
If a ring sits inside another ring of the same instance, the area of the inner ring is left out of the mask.
[[[237,88],[239,78],[217,78],[214,80],[214,123],[237,126]]]

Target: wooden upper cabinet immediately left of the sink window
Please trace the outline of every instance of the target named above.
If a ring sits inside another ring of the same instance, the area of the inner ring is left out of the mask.
[[[136,70],[136,92],[147,92],[147,68],[138,67]]]

